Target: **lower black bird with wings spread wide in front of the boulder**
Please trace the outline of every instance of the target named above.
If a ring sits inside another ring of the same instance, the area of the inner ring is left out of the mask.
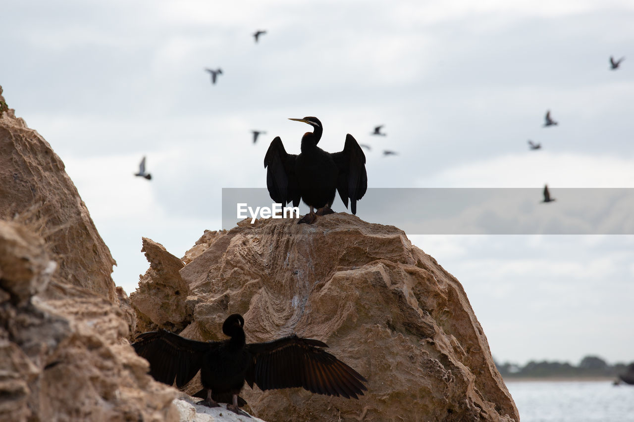
[[[150,375],[157,381],[181,388],[200,370],[202,390],[195,397],[204,406],[219,406],[214,397],[230,393],[228,410],[245,414],[238,407],[238,393],[245,381],[261,390],[303,387],[318,394],[358,399],[368,389],[361,374],[335,356],[319,340],[296,335],[266,343],[246,343],[244,319],[232,314],[224,320],[221,342],[197,342],[168,331],[140,334],[132,345],[150,362]],[[248,415],[247,415],[248,416]]]

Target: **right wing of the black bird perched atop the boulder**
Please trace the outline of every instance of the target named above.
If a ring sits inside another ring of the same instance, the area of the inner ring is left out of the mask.
[[[332,154],[339,167],[337,192],[346,208],[350,199],[350,209],[356,214],[356,201],[363,198],[368,189],[368,174],[365,170],[365,154],[351,134],[346,135],[344,150]]]

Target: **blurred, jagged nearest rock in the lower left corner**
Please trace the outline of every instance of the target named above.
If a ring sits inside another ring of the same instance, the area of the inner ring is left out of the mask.
[[[125,340],[129,307],[51,279],[29,227],[0,221],[0,256],[0,420],[178,421],[176,391]]]

